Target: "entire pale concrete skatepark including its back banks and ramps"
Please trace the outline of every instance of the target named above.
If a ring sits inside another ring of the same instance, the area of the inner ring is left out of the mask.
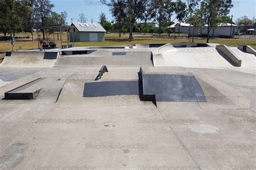
[[[208,45],[51,49],[58,54],[49,61],[36,50],[11,54],[0,66],[1,99],[32,80],[44,83],[36,99],[0,101],[0,169],[255,169],[255,55],[228,47],[242,60],[235,67]],[[102,65],[109,72],[95,81]],[[106,86],[137,88],[140,67],[145,92],[193,101],[156,107],[139,89]]]

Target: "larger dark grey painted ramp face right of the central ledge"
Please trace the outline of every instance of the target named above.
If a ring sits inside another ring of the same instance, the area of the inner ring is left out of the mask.
[[[194,76],[143,75],[144,95],[156,95],[157,102],[207,102]]]

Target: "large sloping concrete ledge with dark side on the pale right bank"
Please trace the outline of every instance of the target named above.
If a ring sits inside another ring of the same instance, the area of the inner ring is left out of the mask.
[[[231,60],[235,66],[241,67],[242,60],[237,55],[235,55],[226,45],[217,45],[216,49],[223,53],[229,60]]]

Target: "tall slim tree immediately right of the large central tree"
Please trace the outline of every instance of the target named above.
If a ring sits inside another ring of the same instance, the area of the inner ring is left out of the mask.
[[[161,36],[161,26],[166,20],[167,10],[166,10],[166,0],[151,0],[149,4],[149,13],[154,22],[159,26],[159,37]]]

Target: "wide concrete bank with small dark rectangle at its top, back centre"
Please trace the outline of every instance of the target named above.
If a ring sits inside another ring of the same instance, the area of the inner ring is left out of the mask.
[[[58,58],[55,67],[93,66],[153,66],[151,51],[136,49],[98,49],[90,54],[64,55]]]

